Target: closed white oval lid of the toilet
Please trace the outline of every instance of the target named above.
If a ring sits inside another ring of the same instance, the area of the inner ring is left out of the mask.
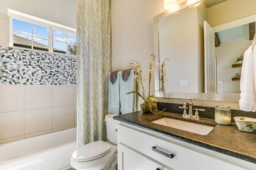
[[[89,161],[100,158],[110,151],[110,145],[103,141],[95,141],[78,148],[73,154],[77,162]]]

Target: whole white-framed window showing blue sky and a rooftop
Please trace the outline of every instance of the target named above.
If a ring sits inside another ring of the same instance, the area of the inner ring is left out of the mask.
[[[76,29],[14,10],[9,13],[11,46],[76,55]]]

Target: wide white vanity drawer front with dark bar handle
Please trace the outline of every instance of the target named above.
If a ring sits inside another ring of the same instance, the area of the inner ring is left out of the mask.
[[[150,156],[151,158],[162,162],[164,165],[169,166],[170,168],[174,168],[176,170],[187,170],[191,169],[191,167],[199,170],[222,170],[225,168],[232,170],[243,169],[233,164],[229,164],[228,162],[218,160],[177,144],[184,143],[183,141],[174,139],[177,141],[176,144],[170,143],[169,141],[155,137],[152,132],[142,133],[138,129],[140,128],[136,127],[135,129],[132,129],[130,127],[126,127],[125,125],[119,124],[118,143],[122,143],[134,150],[137,150],[138,152]],[[153,150],[152,147],[154,147]],[[170,158],[172,156],[168,156],[171,154],[173,154],[173,158]]]

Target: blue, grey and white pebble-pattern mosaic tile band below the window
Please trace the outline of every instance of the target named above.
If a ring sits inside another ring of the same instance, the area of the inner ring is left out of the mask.
[[[76,85],[76,57],[0,46],[0,84]]]

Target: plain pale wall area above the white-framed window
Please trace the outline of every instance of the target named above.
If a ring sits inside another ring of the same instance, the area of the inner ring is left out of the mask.
[[[0,13],[8,8],[76,28],[75,0],[1,0]]]

